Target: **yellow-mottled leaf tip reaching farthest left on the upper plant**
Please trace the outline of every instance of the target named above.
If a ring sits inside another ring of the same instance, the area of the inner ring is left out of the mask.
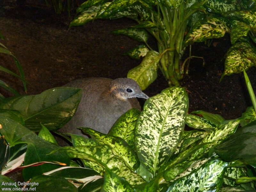
[[[69,27],[84,25],[85,23],[88,23],[96,19],[96,15],[99,10],[100,10],[100,5],[92,6],[89,9],[86,9],[85,11],[81,12],[74,20],[71,21],[71,23],[69,24]]]

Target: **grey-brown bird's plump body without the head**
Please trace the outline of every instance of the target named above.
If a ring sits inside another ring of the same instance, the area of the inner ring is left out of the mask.
[[[116,120],[130,108],[140,109],[137,99],[117,100],[109,92],[112,79],[83,78],[66,84],[82,88],[82,98],[73,118],[60,131],[82,134],[79,127],[90,127],[108,133]]]

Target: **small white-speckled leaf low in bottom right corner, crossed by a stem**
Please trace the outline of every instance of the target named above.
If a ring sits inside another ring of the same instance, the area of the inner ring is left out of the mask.
[[[243,167],[227,167],[227,169],[224,172],[225,176],[228,176],[233,179],[238,179],[239,177],[246,176],[246,170]],[[235,186],[235,181],[224,178],[223,182],[229,186]]]

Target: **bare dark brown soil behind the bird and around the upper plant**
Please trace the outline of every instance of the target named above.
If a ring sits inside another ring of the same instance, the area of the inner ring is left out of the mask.
[[[1,43],[13,52],[24,68],[29,82],[28,94],[38,94],[82,77],[125,77],[131,68],[140,64],[141,60],[122,55],[139,43],[126,36],[111,34],[115,29],[135,25],[133,20],[95,20],[68,29],[71,19],[67,13],[57,15],[47,7],[33,4],[18,7],[15,3],[5,3],[1,7],[0,32],[5,37]],[[156,47],[154,39],[149,44]],[[242,74],[225,76],[219,83],[230,45],[227,35],[214,39],[209,47],[204,43],[192,46],[192,55],[204,57],[205,66],[201,59],[192,59],[189,76],[181,81],[188,90],[189,112],[205,110],[225,119],[234,119],[251,105]],[[184,54],[186,57],[188,51]],[[9,56],[1,54],[0,63],[17,71]],[[256,90],[255,72],[254,68],[248,70]],[[23,92],[16,77],[1,72],[0,79]],[[157,80],[144,92],[153,96],[166,87],[159,72]]]

